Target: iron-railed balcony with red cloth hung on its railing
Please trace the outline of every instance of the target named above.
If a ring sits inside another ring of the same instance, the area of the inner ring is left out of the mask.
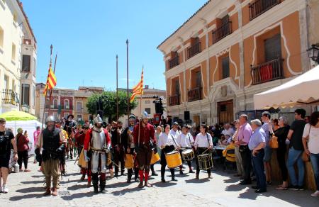
[[[276,79],[284,78],[282,62],[280,57],[276,60],[262,63],[257,66],[250,66],[252,69],[252,84],[262,84]]]

